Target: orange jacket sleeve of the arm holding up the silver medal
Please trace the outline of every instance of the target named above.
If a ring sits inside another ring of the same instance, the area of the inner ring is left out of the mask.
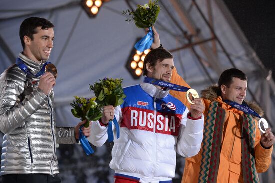
[[[258,121],[255,120],[256,126],[258,126]],[[255,160],[256,169],[258,173],[267,171],[271,164],[273,145],[269,149],[265,149],[260,144],[260,131],[256,127],[256,139],[255,139]]]

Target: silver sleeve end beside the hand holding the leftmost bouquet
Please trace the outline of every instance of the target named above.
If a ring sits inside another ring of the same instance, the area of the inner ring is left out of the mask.
[[[74,127],[57,127],[56,143],[59,143],[59,144],[77,143],[75,139],[75,128]]]

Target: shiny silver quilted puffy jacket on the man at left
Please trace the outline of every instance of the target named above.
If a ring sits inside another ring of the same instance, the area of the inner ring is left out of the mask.
[[[22,53],[19,57],[34,75],[43,66]],[[16,64],[0,76],[0,175],[59,173],[56,143],[76,143],[74,127],[56,127],[53,91],[47,96],[37,89],[39,79]]]

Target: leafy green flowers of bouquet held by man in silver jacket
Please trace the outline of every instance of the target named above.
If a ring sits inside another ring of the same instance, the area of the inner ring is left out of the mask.
[[[98,120],[102,117],[101,110],[97,103],[96,98],[83,98],[74,96],[75,100],[70,105],[73,107],[71,109],[74,117],[81,118],[82,121],[87,120],[84,127],[89,127],[89,121]]]

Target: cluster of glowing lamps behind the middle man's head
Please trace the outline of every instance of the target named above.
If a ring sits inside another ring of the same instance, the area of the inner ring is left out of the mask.
[[[137,38],[135,42],[140,40],[141,38]],[[126,62],[125,67],[130,72],[134,79],[139,79],[142,75],[142,69],[144,66],[144,58],[150,52],[150,49],[145,50],[144,52],[137,51],[134,46],[129,55],[128,61]]]

